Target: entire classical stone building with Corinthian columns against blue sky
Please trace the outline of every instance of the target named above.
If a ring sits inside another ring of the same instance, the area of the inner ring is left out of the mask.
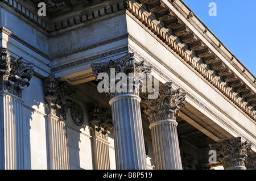
[[[0,30],[0,169],[255,169],[255,77],[183,1],[2,0]]]

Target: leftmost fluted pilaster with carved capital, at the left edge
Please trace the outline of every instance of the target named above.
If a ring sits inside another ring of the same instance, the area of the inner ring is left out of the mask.
[[[0,48],[0,169],[24,169],[22,90],[30,86],[34,64],[11,59]]]

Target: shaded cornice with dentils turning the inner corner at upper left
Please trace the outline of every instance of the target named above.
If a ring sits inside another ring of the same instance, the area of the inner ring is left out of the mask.
[[[47,16],[39,16],[37,14],[36,7],[26,5],[25,1],[2,0],[0,1],[0,4],[1,3],[6,4],[6,9],[18,13],[23,17],[23,20],[29,22],[31,26],[35,26],[46,36],[54,36],[58,33],[63,33],[64,31],[70,31],[73,28],[84,26],[84,24],[91,23],[96,19],[102,20],[115,14],[125,12],[123,2],[114,1],[110,3],[102,3],[102,7],[90,7],[87,11],[80,10],[76,13],[71,11],[68,12],[67,15],[63,16],[63,18],[49,19]]]

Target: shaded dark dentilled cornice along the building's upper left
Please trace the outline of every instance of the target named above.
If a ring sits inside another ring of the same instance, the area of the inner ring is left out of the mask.
[[[49,12],[54,13],[55,11],[64,11],[67,13],[70,13],[68,16],[65,14],[65,18],[56,18],[52,19],[48,16],[39,16],[37,13],[37,10],[39,9],[34,3],[35,7],[31,8],[31,5],[27,5],[25,1],[2,1],[0,3],[5,3],[7,6],[10,6],[11,9],[14,9],[16,12],[18,12],[20,15],[24,16],[24,18],[28,19],[31,21],[33,24],[38,26],[42,32],[45,35],[50,35],[51,32],[56,32],[59,30],[69,30],[69,27],[75,27],[77,25],[83,25],[83,23],[86,23],[90,20],[93,19],[98,19],[98,18],[108,18],[110,14],[114,14],[115,12],[125,10],[123,1],[117,1],[117,2],[110,2],[110,3],[105,3],[102,2],[101,6],[99,7],[98,5],[96,7],[90,7],[88,11],[79,11],[79,14],[74,15],[72,10],[73,6],[77,5],[88,5],[91,1],[85,1],[81,0],[79,1],[73,1],[69,0],[69,3],[64,3],[60,1],[54,1],[54,0],[47,0],[45,1],[47,8],[50,10]],[[86,8],[85,8],[86,9]]]

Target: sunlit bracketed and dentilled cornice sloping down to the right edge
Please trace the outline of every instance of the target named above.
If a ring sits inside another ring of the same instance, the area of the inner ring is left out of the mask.
[[[152,3],[150,3],[152,2]],[[143,1],[145,3],[145,1]],[[191,50],[196,51],[197,57],[191,57],[191,53],[187,53],[185,47],[180,48],[177,43],[172,40],[171,36],[168,33],[162,31],[157,24],[155,24],[152,20],[151,16],[143,13],[141,10],[144,6],[139,5],[138,3],[133,3],[131,1],[127,1],[126,7],[127,10],[131,12],[137,19],[139,19],[148,29],[150,29],[156,36],[159,37],[164,43],[168,45],[171,49],[173,49],[183,60],[185,60],[189,65],[191,65],[196,71],[198,71],[204,78],[206,78],[212,85],[214,85],[218,90],[222,92],[225,96],[227,96],[230,100],[232,100],[238,107],[241,108],[244,112],[247,113],[252,119],[256,120],[255,115],[255,106],[256,106],[256,96],[253,90],[249,88],[243,82],[238,75],[234,74],[232,70],[230,70],[224,62],[220,60],[210,50],[206,45],[199,40],[195,34],[189,30],[185,23],[181,22],[179,17],[175,15],[168,6],[166,6],[162,1],[148,1],[146,3],[147,8],[151,10],[151,12],[155,13],[155,15],[162,19],[164,23],[176,22],[175,24],[171,24],[169,28],[171,28],[172,32],[174,32],[175,36],[179,36],[181,40],[184,40],[183,43],[186,43]],[[154,5],[154,6],[153,6]],[[191,15],[192,16],[192,15]],[[164,18],[163,18],[164,17]],[[168,28],[168,27],[167,27]],[[203,60],[205,65],[201,65],[200,61]],[[208,72],[207,65],[210,65],[210,68],[215,71],[218,76],[222,77],[224,81],[219,77],[213,77],[212,74]],[[223,86],[219,81],[226,83],[230,88]],[[237,99],[236,96],[240,96],[240,99]],[[250,105],[248,105],[250,103]]]

